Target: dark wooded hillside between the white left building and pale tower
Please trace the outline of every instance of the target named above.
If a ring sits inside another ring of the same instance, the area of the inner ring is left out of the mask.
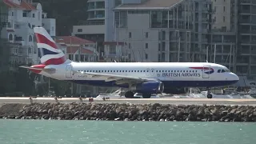
[[[70,35],[72,26],[87,18],[87,0],[34,0],[42,4],[48,18],[56,18],[56,35]]]

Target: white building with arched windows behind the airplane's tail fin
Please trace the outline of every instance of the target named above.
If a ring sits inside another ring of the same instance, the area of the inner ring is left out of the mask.
[[[8,24],[1,31],[2,38],[8,38],[12,46],[10,62],[38,64],[38,49],[35,44],[35,26],[44,26],[51,36],[55,36],[55,19],[46,18],[40,3],[32,0],[3,0],[8,9]]]

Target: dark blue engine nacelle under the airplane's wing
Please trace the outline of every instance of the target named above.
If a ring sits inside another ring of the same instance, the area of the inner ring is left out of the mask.
[[[161,94],[164,90],[163,82],[143,82],[131,86],[131,90],[140,94]]]

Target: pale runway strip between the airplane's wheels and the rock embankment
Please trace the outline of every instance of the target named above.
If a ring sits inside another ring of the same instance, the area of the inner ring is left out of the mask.
[[[33,98],[33,102],[56,102],[54,98]],[[89,98],[58,98],[58,102],[89,102]],[[160,103],[172,105],[250,105],[256,106],[256,99],[233,99],[233,98],[110,98],[103,101],[101,98],[94,98],[94,103],[132,103],[147,104]],[[0,106],[3,103],[27,103],[30,104],[29,97],[0,97]]]

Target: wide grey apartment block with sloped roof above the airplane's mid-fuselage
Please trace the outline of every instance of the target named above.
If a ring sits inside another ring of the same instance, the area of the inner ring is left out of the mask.
[[[114,18],[134,61],[206,62],[210,10],[210,0],[123,0]]]

